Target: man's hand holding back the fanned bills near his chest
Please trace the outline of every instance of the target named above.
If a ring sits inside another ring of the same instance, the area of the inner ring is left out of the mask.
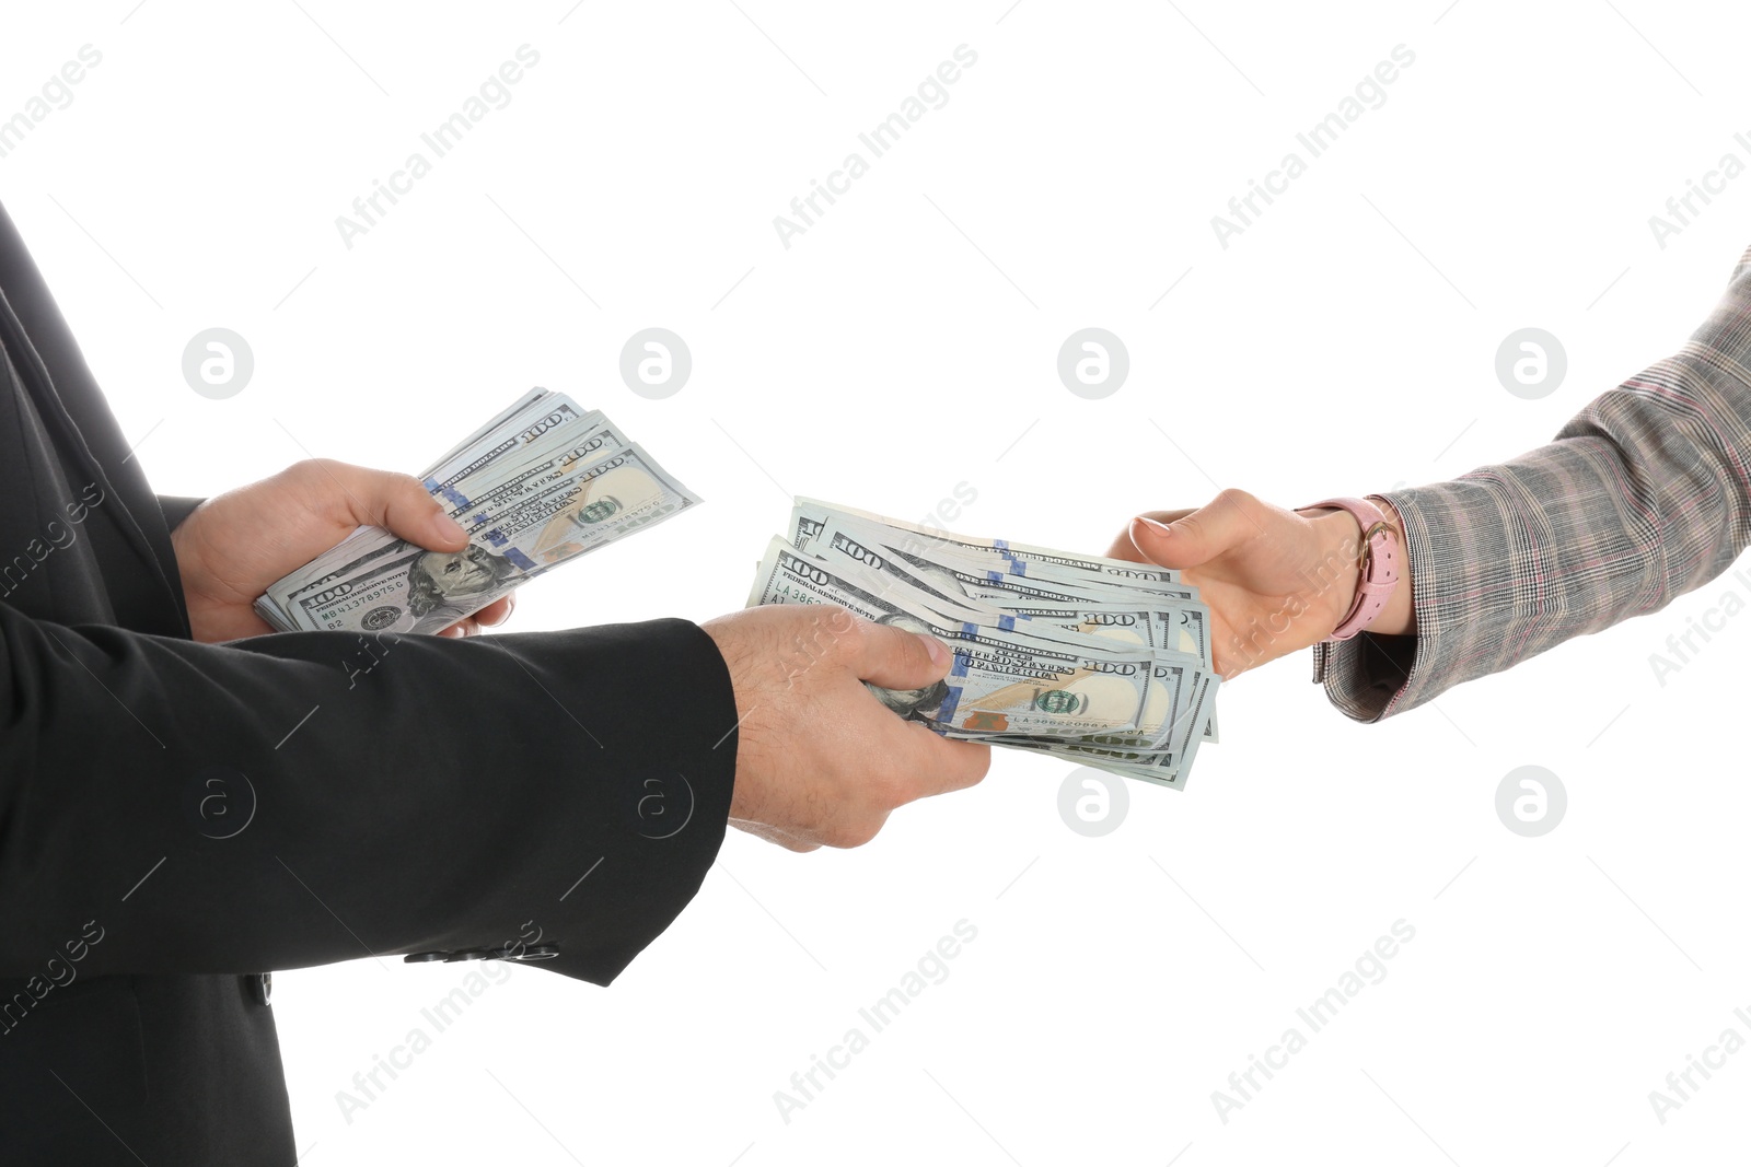
[[[208,499],[170,532],[194,639],[212,644],[273,632],[250,607],[256,597],[354,527],[383,527],[427,551],[468,544],[417,478],[326,458],[299,462]],[[441,635],[475,635],[482,625],[504,623],[511,607],[504,597]]]

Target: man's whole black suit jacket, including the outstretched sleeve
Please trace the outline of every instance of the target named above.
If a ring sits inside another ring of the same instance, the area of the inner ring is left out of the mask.
[[[0,210],[0,1160],[292,1164],[270,969],[601,985],[723,842],[686,621],[189,640],[170,530]],[[581,882],[580,882],[581,878]]]

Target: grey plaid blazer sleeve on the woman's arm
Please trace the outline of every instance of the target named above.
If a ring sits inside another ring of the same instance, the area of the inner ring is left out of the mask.
[[[1415,637],[1313,649],[1357,721],[1415,709],[1569,637],[1658,611],[1751,542],[1751,250],[1674,355],[1548,446],[1385,497],[1404,520]]]

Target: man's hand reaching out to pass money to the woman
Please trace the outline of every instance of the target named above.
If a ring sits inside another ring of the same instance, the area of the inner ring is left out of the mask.
[[[863,682],[919,689],[940,640],[830,605],[767,605],[704,625],[735,686],[741,745],[730,822],[791,850],[858,847],[916,798],[975,784],[991,747],[897,717]]]

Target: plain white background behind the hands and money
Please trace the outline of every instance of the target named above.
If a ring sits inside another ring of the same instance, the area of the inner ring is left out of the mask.
[[[0,196],[161,492],[306,451],[417,469],[546,385],[706,495],[525,590],[522,630],[739,607],[790,493],[919,518],[968,483],[961,530],[1098,551],[1217,486],[1448,478],[1676,350],[1751,238],[1751,177],[1663,248],[1648,226],[1723,152],[1751,161],[1751,21],[1725,3],[737,3],[9,5],[0,115],[81,45],[103,61],[0,159]],[[541,61],[510,105],[348,250],[336,215],[522,44]],[[772,217],[960,44],[947,105],[786,250]],[[1222,248],[1210,217],[1397,44],[1385,105]],[[229,401],[180,374],[214,325],[256,353]],[[693,352],[667,401],[618,378],[648,325]],[[1056,376],[1086,325],[1129,346],[1105,401]],[[1525,325],[1569,353],[1543,401],[1494,374]],[[1304,660],[1252,674],[1191,789],[1133,784],[1105,838],[1059,821],[1066,766],[1014,752],[854,852],[732,833],[613,989],[513,969],[350,1123],[336,1092],[464,969],[282,975],[299,1150],[1725,1162],[1751,1055],[1663,1125],[1648,1092],[1751,1038],[1751,632],[1663,686],[1648,656],[1728,586],[1751,595],[1716,581],[1380,726]],[[1520,765],[1569,791],[1543,838],[1495,817]],[[786,1123],[774,1092],[961,919],[949,978]],[[1399,919],[1387,978],[1224,1123],[1212,1092]]]

